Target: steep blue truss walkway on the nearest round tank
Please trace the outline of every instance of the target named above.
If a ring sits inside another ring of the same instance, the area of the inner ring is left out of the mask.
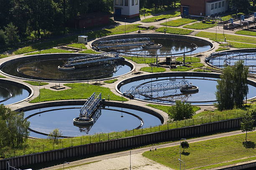
[[[84,103],[83,107],[80,109],[79,117],[90,119],[94,111],[97,109],[97,106],[100,104],[101,92],[92,93],[91,97]]]

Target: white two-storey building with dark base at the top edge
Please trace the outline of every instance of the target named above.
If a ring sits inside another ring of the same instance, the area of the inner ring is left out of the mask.
[[[139,0],[114,0],[114,14],[125,18],[133,18],[140,15]]]

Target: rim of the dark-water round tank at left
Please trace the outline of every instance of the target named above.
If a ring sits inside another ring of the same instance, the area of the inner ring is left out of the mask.
[[[26,56],[22,56],[22,57],[15,57],[15,58],[12,58],[10,60],[6,60],[4,62],[0,62],[0,72],[3,74],[3,75],[7,75],[9,77],[14,77],[14,78],[17,78],[17,79],[21,79],[21,80],[29,80],[29,81],[40,81],[40,82],[84,82],[84,81],[87,81],[87,80],[64,80],[64,81],[61,81],[61,80],[37,80],[37,79],[29,79],[29,78],[23,78],[23,77],[17,77],[17,76],[14,76],[14,75],[9,75],[5,72],[2,71],[2,68],[6,65],[6,64],[9,64],[10,62],[12,61],[20,61],[20,60],[26,60],[26,59],[35,59],[35,58],[41,58],[41,57],[56,57],[56,56],[61,56],[61,55],[65,55],[65,56],[70,56],[70,57],[75,57],[75,56],[83,56],[83,55],[86,55],[86,54],[79,54],[79,53],[51,53],[51,54],[36,54],[36,55],[26,55]],[[88,54],[90,55],[90,54]],[[126,72],[125,74],[123,75],[127,75],[131,72],[133,72],[135,69],[136,69],[136,66],[128,61],[128,60],[122,60],[123,62],[125,62],[125,64],[127,64],[129,67],[131,67],[131,71],[129,72]],[[110,79],[114,79],[114,78],[117,78],[117,77],[120,77],[120,76],[123,76],[123,75],[118,75],[118,76],[115,76],[115,77],[108,77],[108,78],[102,78],[102,79],[95,79],[95,80],[89,80],[89,81],[102,81],[102,80],[110,80]]]

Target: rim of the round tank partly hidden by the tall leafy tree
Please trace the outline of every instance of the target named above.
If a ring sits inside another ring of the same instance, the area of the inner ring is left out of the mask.
[[[189,77],[211,77],[211,78],[220,78],[220,73],[208,73],[208,72],[161,72],[161,73],[151,73],[151,74],[146,74],[146,75],[138,75],[138,76],[135,76],[135,77],[130,77],[130,78],[126,78],[120,82],[118,82],[116,85],[115,85],[115,90],[120,94],[122,95],[122,92],[120,92],[120,87],[125,85],[125,84],[128,84],[130,82],[134,82],[134,81],[137,81],[137,80],[145,80],[145,79],[148,79],[148,78],[154,78],[154,77],[177,77],[177,76],[189,76]],[[249,85],[252,85],[254,87],[256,87],[256,81],[254,80],[249,80],[247,79],[248,81],[248,84]],[[121,83],[123,83],[123,85],[121,85]],[[251,97],[247,100],[251,100],[251,99],[254,99],[256,98],[256,96],[254,97]],[[130,99],[131,100],[131,99]],[[172,103],[163,103],[163,102],[152,102],[152,101],[147,101],[147,100],[142,100],[142,99],[138,99],[138,98],[134,98],[134,100],[139,100],[139,101],[142,101],[142,102],[148,102],[148,103],[155,103],[155,104],[161,104],[161,105],[175,105],[175,104],[172,104]],[[207,101],[207,102],[212,102],[212,101]],[[193,104],[195,106],[211,106],[211,105],[214,105],[214,104]]]

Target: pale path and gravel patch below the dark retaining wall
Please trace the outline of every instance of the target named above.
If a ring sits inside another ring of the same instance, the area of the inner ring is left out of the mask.
[[[239,134],[243,134],[241,132],[241,130],[237,130],[237,131],[233,131],[233,132],[228,132],[228,133],[221,133],[221,134],[217,134],[217,135],[210,135],[210,136],[205,136],[205,137],[201,137],[201,138],[195,138],[195,139],[189,139],[187,140],[188,143],[195,143],[195,142],[200,142],[200,141],[205,141],[205,140],[211,140],[211,139],[216,139],[216,138],[222,138],[222,137],[226,137],[226,136],[232,136],[232,135],[239,135]],[[179,142],[174,142],[174,143],[167,143],[167,144],[163,144],[163,145],[157,145],[155,146],[157,149],[160,149],[160,148],[167,148],[167,147],[172,147],[172,146],[177,146],[179,145]],[[154,147],[154,148],[155,148]],[[150,150],[152,147],[146,147],[146,148],[140,148],[140,149],[135,149],[135,150],[131,150],[131,153],[132,153],[132,158],[133,158],[133,155],[137,158],[140,158],[139,155],[141,155],[142,153]],[[137,154],[137,155],[136,155]],[[83,160],[77,160],[77,161],[74,161],[74,162],[71,162],[70,164],[66,164],[65,167],[69,167],[69,166],[74,166],[74,165],[79,165],[79,164],[84,164],[84,163],[91,163],[91,162],[95,162],[95,161],[101,161],[101,160],[107,160],[107,161],[104,161],[105,164],[103,164],[105,166],[105,168],[103,168],[104,170],[105,169],[108,169],[106,167],[111,167],[111,170],[115,170],[115,168],[113,167],[113,164],[115,165],[116,163],[118,164],[118,162],[123,162],[124,160],[120,160],[120,159],[115,159],[117,157],[122,157],[123,159],[126,159],[126,162],[129,162],[130,161],[130,157],[128,156],[130,155],[130,150],[128,151],[124,151],[124,152],[119,152],[119,153],[111,153],[111,154],[107,154],[107,155],[100,155],[100,156],[96,156],[96,157],[92,157],[92,158],[87,158],[87,159],[83,159]],[[141,157],[142,158],[142,157]],[[144,158],[144,157],[143,157]],[[147,159],[147,158],[146,158]],[[113,160],[116,160],[118,162],[113,162]],[[137,160],[134,160],[133,161],[137,161]],[[138,160],[139,161],[139,160]],[[144,162],[145,165],[142,165]],[[91,164],[87,164],[87,165],[81,165],[81,166],[77,166],[76,168],[72,168],[72,170],[74,169],[88,169],[89,166],[91,167],[93,164],[96,164],[96,163],[91,163]],[[145,166],[146,165],[152,165],[152,162],[148,162],[147,160],[143,160],[141,161],[140,163],[138,163],[141,168],[144,166],[144,168],[146,168]],[[134,164],[135,165],[135,164]],[[118,165],[117,165],[118,166]],[[159,167],[159,165],[154,165],[156,167]],[[43,170],[56,170],[56,169],[59,169],[59,168],[63,168],[63,164],[61,165],[56,165],[54,167],[49,167],[49,168],[44,168]],[[94,166],[95,168],[95,166]],[[120,167],[116,167],[117,169],[120,168]],[[133,167],[132,167],[133,168]],[[143,169],[144,169],[143,168]],[[90,169],[90,168],[89,168]],[[97,168],[98,169],[98,168]],[[102,169],[102,168],[100,168]],[[102,170],[103,170],[102,169]],[[126,169],[126,168],[125,168]],[[128,169],[128,164],[127,164],[127,169]],[[138,168],[136,168],[138,169]],[[165,170],[168,170],[170,168],[168,167],[164,167]],[[159,170],[164,170],[162,169],[161,167],[159,167]],[[99,169],[98,169],[99,170]]]

